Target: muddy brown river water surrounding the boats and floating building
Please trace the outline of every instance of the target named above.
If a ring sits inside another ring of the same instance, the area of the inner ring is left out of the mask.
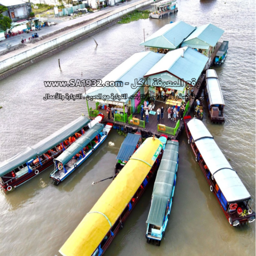
[[[139,46],[143,29],[148,37],[170,21],[195,26],[212,23],[225,30],[221,39],[229,41],[224,65],[215,68],[226,104],[226,122],[212,125],[207,115],[203,122],[255,199],[256,2],[179,0],[178,4],[179,12],[169,18],[114,25],[95,35],[97,48],[88,38],[0,81],[0,162],[81,113],[87,114],[83,100],[42,99],[46,93],[82,93],[83,89],[45,88],[44,81],[80,78],[81,72],[83,79],[102,78],[127,57],[144,50]],[[58,249],[110,184],[106,180],[91,186],[113,174],[123,139],[111,131],[94,155],[59,186],[49,179],[50,167],[13,193],[1,193],[0,255],[59,255]],[[187,144],[185,131],[179,154],[174,204],[161,246],[148,245],[145,239],[151,184],[105,255],[255,255],[255,222],[236,228],[229,225]]]

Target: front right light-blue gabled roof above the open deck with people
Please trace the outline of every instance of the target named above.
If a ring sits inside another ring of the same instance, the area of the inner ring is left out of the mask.
[[[184,50],[184,57],[182,52]],[[198,80],[208,58],[190,47],[182,47],[168,52],[156,65],[145,74],[150,77],[154,74],[169,72],[184,81]]]

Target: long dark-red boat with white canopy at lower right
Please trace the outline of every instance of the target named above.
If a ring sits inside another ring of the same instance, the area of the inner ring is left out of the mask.
[[[230,225],[255,220],[251,196],[202,121],[184,117],[188,143]]]

